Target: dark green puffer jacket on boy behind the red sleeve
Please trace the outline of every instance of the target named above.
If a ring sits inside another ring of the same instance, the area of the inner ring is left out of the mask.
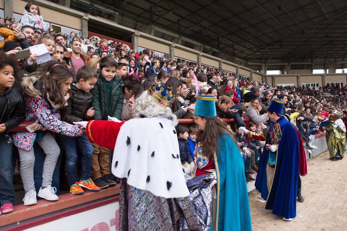
[[[106,85],[103,80],[101,72],[99,78],[94,84],[94,88],[91,90],[93,94],[92,107],[94,108],[93,119],[107,120],[107,116],[116,117],[120,119],[123,109],[123,90],[124,82],[117,75],[113,78],[110,105],[107,105],[107,92]],[[109,107],[109,113],[106,114],[107,107]]]

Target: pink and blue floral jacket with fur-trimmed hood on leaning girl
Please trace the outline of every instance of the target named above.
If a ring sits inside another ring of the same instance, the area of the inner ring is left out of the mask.
[[[43,131],[52,131],[67,136],[83,135],[82,128],[60,120],[59,110],[52,110],[48,99],[43,96],[42,83],[37,77],[22,78],[25,99],[25,119],[41,125]],[[16,132],[12,135],[13,143],[20,149],[30,151],[36,139],[36,132]]]

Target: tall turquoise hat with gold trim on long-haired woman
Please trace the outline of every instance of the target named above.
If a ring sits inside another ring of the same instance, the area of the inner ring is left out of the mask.
[[[217,116],[214,97],[198,95],[196,97],[194,114],[203,117]]]

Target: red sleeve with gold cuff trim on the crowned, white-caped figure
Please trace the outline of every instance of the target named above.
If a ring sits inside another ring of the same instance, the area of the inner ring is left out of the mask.
[[[87,138],[91,143],[96,143],[108,149],[115,149],[120,127],[125,122],[116,123],[106,120],[91,120],[87,124]]]

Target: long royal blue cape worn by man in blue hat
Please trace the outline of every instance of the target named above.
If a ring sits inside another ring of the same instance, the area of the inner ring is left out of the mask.
[[[261,197],[267,200],[265,209],[270,209],[273,214],[289,219],[296,216],[299,140],[294,127],[284,116],[281,116],[276,122],[280,125],[282,137],[278,145],[272,186],[269,192],[266,183],[266,166],[268,165],[270,150],[264,149],[255,180],[255,188],[261,193]],[[266,141],[266,144],[271,143]]]

